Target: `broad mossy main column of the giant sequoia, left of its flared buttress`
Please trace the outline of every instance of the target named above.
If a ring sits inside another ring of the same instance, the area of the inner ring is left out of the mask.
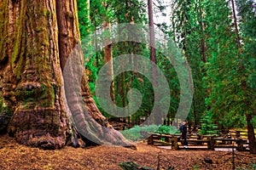
[[[1,82],[3,103],[13,114],[8,132],[21,144],[61,148],[69,129],[61,94],[55,1],[5,5],[8,53],[1,56],[8,64],[1,62]]]

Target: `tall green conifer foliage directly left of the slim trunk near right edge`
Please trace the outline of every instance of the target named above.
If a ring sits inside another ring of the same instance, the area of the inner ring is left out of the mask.
[[[216,8],[217,6],[221,8]],[[236,34],[232,31],[230,18],[231,9],[226,1],[207,1],[205,20],[207,26],[207,63],[204,68],[204,88],[207,89],[207,114],[212,115],[212,121],[220,126],[229,127],[230,117],[241,117],[241,111],[234,111],[236,99],[239,99],[241,80],[236,74],[239,68]],[[241,108],[241,106],[239,106]],[[242,119],[236,119],[236,124],[243,127]]]

